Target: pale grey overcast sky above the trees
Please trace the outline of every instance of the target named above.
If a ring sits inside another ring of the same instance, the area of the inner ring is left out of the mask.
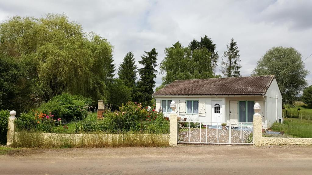
[[[154,47],[160,63],[166,47],[176,41],[187,46],[203,35],[212,38],[220,56],[232,37],[237,41],[242,76],[249,76],[256,61],[273,46],[294,47],[303,60],[312,54],[312,1],[308,0],[0,1],[0,22],[15,15],[47,13],[65,13],[86,32],[107,38],[115,46],[117,66],[127,52],[132,51],[139,61],[144,51]],[[306,79],[312,84],[312,56],[304,63],[310,71]],[[156,87],[161,77],[158,74]]]

